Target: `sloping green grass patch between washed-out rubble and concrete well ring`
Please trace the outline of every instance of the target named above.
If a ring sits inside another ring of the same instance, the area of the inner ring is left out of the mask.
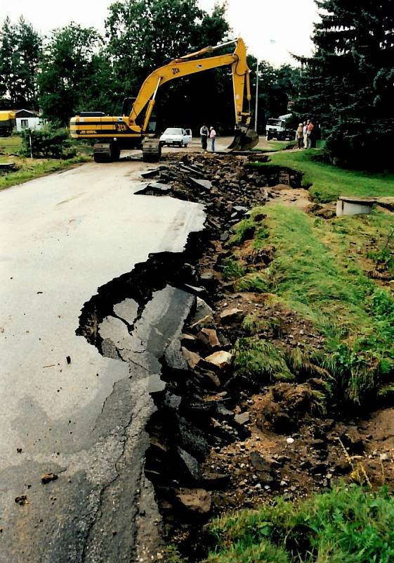
[[[317,333],[325,337],[322,350],[304,353],[302,369],[284,358],[284,379],[289,373],[302,379],[310,372],[310,377],[322,377],[332,386],[336,400],[354,405],[392,389],[394,301],[390,291],[367,277],[363,265],[370,254],[365,250],[368,243],[374,242],[379,257],[383,251],[386,258],[394,251],[390,239],[392,216],[374,212],[327,222],[280,204],[268,205],[264,212],[265,216],[261,208],[256,208],[248,220],[235,227],[231,262],[235,289],[270,291],[285,307],[310,320]],[[268,267],[248,272],[244,256],[237,262],[235,243],[242,244],[245,232],[253,232],[254,239],[248,240],[244,253],[247,249],[254,253],[267,244],[275,248]],[[248,322],[251,336],[256,336],[258,324],[252,318]],[[274,372],[277,369],[279,374],[282,369],[277,360],[283,350],[274,352],[270,348],[266,353],[267,343],[260,344],[258,338],[247,341],[250,349],[245,343],[236,348],[238,372],[243,369],[255,377],[260,371],[271,381],[280,379]]]

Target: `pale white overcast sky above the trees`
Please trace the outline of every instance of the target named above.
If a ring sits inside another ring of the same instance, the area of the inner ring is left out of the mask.
[[[103,31],[112,0],[0,0],[1,21],[24,15],[45,34],[70,21]],[[215,0],[199,0],[211,11]],[[243,37],[249,52],[273,65],[294,62],[289,52],[309,55],[313,22],[318,18],[313,0],[228,0],[228,21],[235,36]]]

